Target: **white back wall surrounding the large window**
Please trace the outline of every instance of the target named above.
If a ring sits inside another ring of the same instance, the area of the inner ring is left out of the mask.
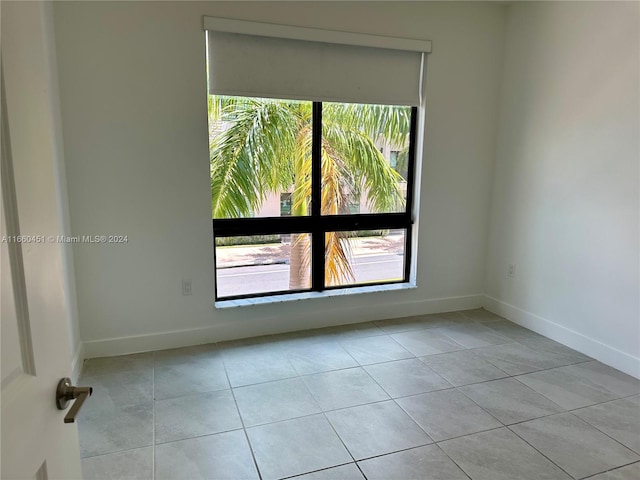
[[[129,237],[75,246],[89,356],[480,305],[505,7],[56,2],[54,13],[72,230]],[[213,308],[205,14],[433,41],[416,289]]]

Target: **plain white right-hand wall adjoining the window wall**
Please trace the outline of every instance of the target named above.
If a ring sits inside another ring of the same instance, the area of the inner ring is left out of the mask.
[[[635,376],[639,6],[511,7],[486,283],[491,309]]]

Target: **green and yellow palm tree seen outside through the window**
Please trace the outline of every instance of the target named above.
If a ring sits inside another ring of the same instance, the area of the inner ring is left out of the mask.
[[[211,207],[213,218],[247,217],[271,192],[292,188],[293,216],[307,215],[311,199],[311,102],[209,96]],[[366,192],[374,212],[397,211],[402,177],[376,141],[403,147],[410,109],[323,104],[323,215],[344,213],[350,198]],[[353,279],[348,235],[326,234],[325,282]],[[308,288],[310,238],[294,235],[291,289]]]

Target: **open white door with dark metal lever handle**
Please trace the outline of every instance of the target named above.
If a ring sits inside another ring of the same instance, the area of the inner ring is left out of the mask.
[[[78,431],[55,405],[71,376],[52,114],[51,10],[0,2],[3,241],[1,478],[81,478]],[[49,23],[47,23],[49,22]],[[90,400],[89,400],[90,401]]]

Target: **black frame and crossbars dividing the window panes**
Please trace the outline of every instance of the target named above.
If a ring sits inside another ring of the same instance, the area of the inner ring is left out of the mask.
[[[306,216],[214,218],[213,256],[214,271],[217,272],[216,238],[249,235],[287,235],[308,233],[311,235],[311,287],[302,290],[279,290],[242,295],[218,296],[215,281],[215,301],[258,298],[303,292],[322,292],[343,288],[390,285],[409,282],[411,272],[411,239],[413,228],[414,174],[416,162],[416,130],[418,108],[411,108],[409,130],[409,158],[407,198],[405,211],[397,213],[359,213],[346,215],[322,215],[322,102],[313,102],[311,144],[311,211]],[[369,282],[355,285],[325,285],[325,234],[327,232],[358,230],[405,230],[404,271],[402,280],[391,282]]]

